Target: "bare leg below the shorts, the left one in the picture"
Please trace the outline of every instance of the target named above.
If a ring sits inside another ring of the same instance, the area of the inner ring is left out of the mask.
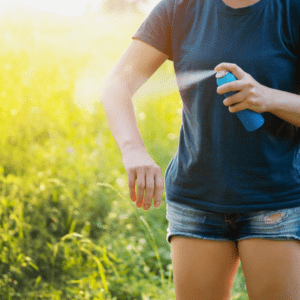
[[[234,242],[171,237],[176,300],[230,300],[239,254]]]

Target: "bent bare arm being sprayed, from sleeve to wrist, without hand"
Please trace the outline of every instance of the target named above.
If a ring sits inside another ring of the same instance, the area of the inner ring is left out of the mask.
[[[104,82],[101,102],[122,153],[145,147],[136,123],[132,96],[167,58],[168,55],[135,39]]]

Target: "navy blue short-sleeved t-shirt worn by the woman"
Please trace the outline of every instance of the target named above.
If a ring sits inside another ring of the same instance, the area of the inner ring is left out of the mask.
[[[176,75],[235,63],[260,84],[299,91],[300,1],[162,0],[133,39],[169,55]],[[166,200],[220,213],[300,206],[299,128],[269,112],[248,132],[217,94],[215,76],[183,89],[178,151],[165,173]],[[300,96],[299,96],[300,105]]]

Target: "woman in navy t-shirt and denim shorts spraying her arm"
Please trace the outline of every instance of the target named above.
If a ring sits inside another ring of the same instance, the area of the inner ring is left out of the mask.
[[[166,59],[177,76],[238,79],[178,81],[182,126],[165,174],[177,300],[230,299],[239,261],[249,299],[300,299],[299,29],[298,0],[162,0],[107,77],[101,100],[130,198],[145,210],[152,198],[159,207],[164,182],[132,95]],[[262,113],[258,130],[237,118],[246,108]]]

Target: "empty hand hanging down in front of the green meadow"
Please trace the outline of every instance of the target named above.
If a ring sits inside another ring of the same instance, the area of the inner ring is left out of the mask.
[[[136,206],[148,210],[154,199],[154,206],[159,207],[164,190],[164,180],[160,167],[142,148],[128,150],[122,156],[128,176],[129,195]],[[135,192],[135,181],[137,192]],[[145,195],[144,195],[145,193]]]

